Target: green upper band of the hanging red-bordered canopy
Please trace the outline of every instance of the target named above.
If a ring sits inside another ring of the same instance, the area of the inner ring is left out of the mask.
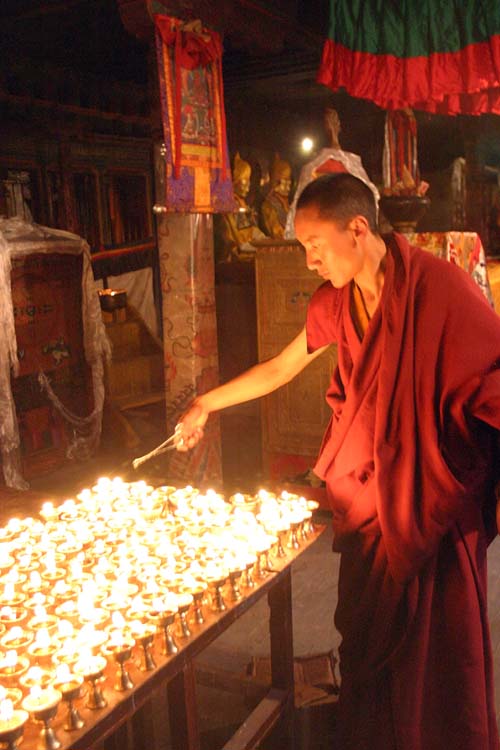
[[[500,34],[500,0],[330,0],[329,37],[356,52],[427,56]]]

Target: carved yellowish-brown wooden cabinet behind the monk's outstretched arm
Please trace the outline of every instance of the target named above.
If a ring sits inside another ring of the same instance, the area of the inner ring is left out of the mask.
[[[272,357],[299,333],[320,283],[317,274],[307,269],[299,243],[258,243],[259,360]],[[330,417],[325,393],[336,362],[332,346],[291,383],[262,399],[264,471],[271,479],[292,477],[314,464]]]

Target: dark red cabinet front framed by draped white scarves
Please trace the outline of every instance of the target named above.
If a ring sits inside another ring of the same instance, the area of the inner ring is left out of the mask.
[[[47,376],[56,397],[77,417],[93,408],[83,343],[82,255],[74,249],[75,240],[66,244],[73,250],[51,252],[49,240],[33,242],[33,253],[17,251],[12,244],[11,301],[19,372],[11,378],[11,389],[26,479],[62,466],[71,443],[71,425],[40,387],[39,375]]]

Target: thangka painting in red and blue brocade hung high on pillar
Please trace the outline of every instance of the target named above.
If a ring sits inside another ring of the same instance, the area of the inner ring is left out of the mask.
[[[235,210],[229,167],[222,44],[199,22],[156,15],[168,211]]]

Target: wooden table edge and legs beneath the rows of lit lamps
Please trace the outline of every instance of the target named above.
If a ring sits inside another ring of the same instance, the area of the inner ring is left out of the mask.
[[[293,561],[313,544],[324,531],[323,526],[314,527],[307,539],[301,540],[299,549],[285,546],[284,557],[271,557],[272,572],[266,578],[255,581],[255,588],[243,588],[243,598],[231,601],[230,587],[226,584],[224,600],[226,611],[213,611],[204,606],[205,622],[191,624],[192,636],[181,639],[176,636],[179,646],[177,654],[162,656],[158,637],[153,649],[157,664],[150,672],[141,672],[130,661],[128,671],[134,687],[120,693],[113,689],[115,666],[108,664],[102,689],[108,700],[104,709],[90,710],[84,706],[85,699],[79,699],[76,706],[85,720],[81,730],[67,732],[63,729],[65,707],[60,706],[53,722],[53,728],[61,741],[61,750],[90,750],[102,745],[106,748],[125,750],[121,732],[129,719],[141,722],[140,710],[150,700],[153,692],[166,686],[167,706],[170,716],[170,733],[174,750],[199,750],[200,732],[195,696],[195,674],[193,660],[215,638],[221,635],[241,615],[248,611],[263,596],[267,596],[270,608],[270,650],[272,680],[270,690],[252,711],[248,720],[236,731],[223,750],[250,750],[258,747],[262,739],[281,720],[284,734],[284,747],[293,747],[293,634],[292,634],[292,587],[291,565]],[[137,650],[137,647],[136,647]],[[40,748],[39,727],[31,721],[26,724],[23,750]],[[154,750],[147,732],[134,736],[134,750]]]

